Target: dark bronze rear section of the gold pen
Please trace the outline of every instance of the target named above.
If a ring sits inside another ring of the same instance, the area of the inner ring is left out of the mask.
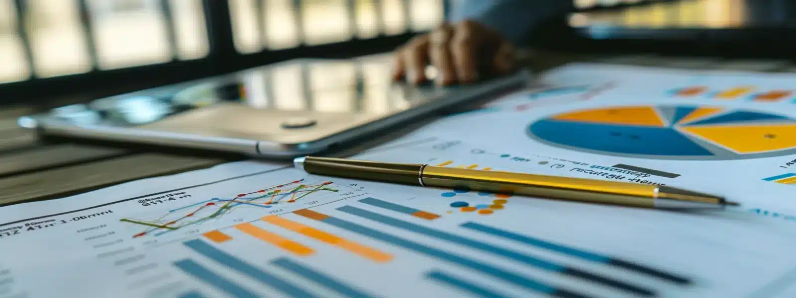
[[[328,157],[306,157],[305,172],[359,180],[420,185],[423,164],[392,164],[377,161],[350,161]]]

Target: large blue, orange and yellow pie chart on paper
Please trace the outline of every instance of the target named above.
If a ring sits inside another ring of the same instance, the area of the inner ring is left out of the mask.
[[[796,154],[796,119],[722,106],[609,106],[528,127],[548,145],[604,155],[737,160]]]

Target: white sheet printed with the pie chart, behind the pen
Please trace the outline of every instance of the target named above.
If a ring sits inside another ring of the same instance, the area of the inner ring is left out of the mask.
[[[796,220],[796,75],[575,64],[542,79],[556,85],[413,136],[568,158],[595,177],[636,172],[623,180],[719,193]]]

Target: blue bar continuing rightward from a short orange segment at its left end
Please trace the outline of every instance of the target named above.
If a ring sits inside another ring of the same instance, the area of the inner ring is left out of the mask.
[[[365,235],[370,238],[378,239],[380,241],[391,243],[394,246],[403,247],[406,250],[413,250],[417,253],[423,253],[431,257],[437,257],[442,259],[443,261],[449,261],[451,263],[461,265],[470,269],[474,269],[475,271],[488,274],[490,276],[496,277],[502,281],[506,281],[512,284],[517,284],[523,288],[527,288],[532,291],[541,292],[544,294],[548,294],[551,296],[564,296],[564,294],[570,297],[583,297],[587,298],[589,296],[583,296],[576,294],[574,292],[569,292],[563,289],[553,288],[547,284],[540,283],[539,281],[533,281],[528,278],[522,277],[517,275],[516,273],[511,273],[505,271],[503,269],[495,268],[491,265],[486,265],[482,262],[475,261],[466,257],[458,256],[453,253],[448,253],[443,250],[437,250],[430,246],[424,246],[423,244],[412,242],[406,240],[404,238],[396,237],[391,234],[385,234],[378,230],[373,230],[366,226],[358,225],[357,223],[351,223],[349,221],[345,221],[343,219],[338,219],[334,217],[329,217],[326,219],[321,220],[323,223],[328,223],[332,226],[337,226],[344,230],[349,230],[353,233]],[[574,296],[573,296],[574,295]]]

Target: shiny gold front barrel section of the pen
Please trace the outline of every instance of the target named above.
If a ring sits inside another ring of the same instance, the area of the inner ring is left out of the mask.
[[[423,184],[573,201],[654,207],[657,186],[466,168],[423,168]]]

